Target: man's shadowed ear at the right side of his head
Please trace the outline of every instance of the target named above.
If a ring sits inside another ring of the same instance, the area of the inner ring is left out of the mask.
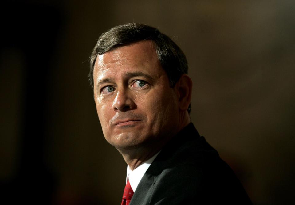
[[[187,74],[182,74],[175,84],[175,91],[178,93],[179,110],[187,111],[191,103],[191,90],[193,82]]]

